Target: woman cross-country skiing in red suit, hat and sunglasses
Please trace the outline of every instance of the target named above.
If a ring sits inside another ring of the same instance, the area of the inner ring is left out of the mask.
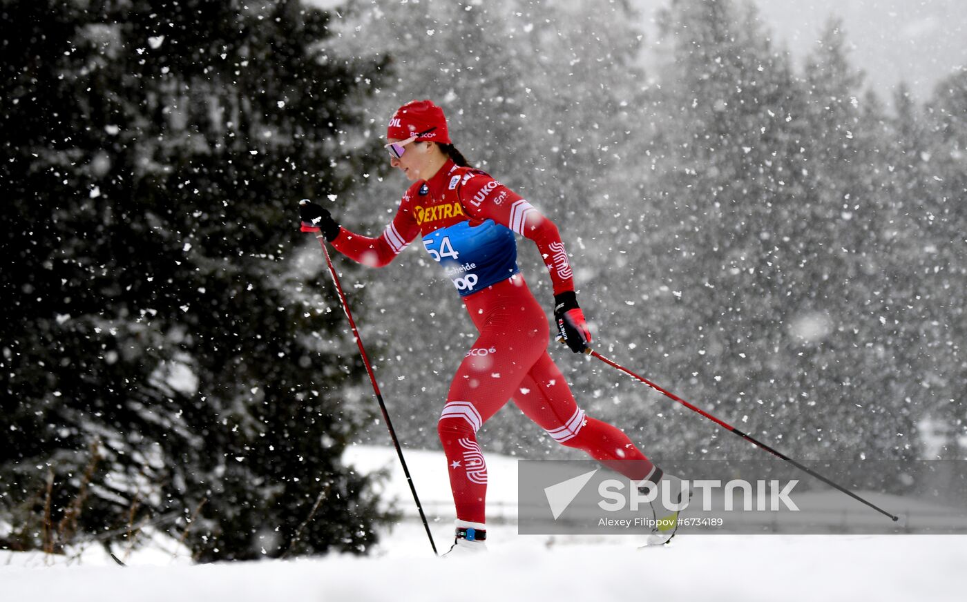
[[[380,236],[350,232],[308,201],[300,204],[300,216],[304,231],[321,229],[340,253],[371,267],[389,264],[421,237],[480,331],[456,371],[437,425],[456,506],[451,552],[486,549],[487,473],[477,431],[512,398],[558,443],[583,449],[641,486],[674,490],[671,497],[678,502],[681,481],[670,475],[662,479],[662,471],[622,431],[586,416],[547,354],[547,318],[517,268],[514,233],[541,252],[564,342],[574,353],[591,342],[574,295],[568,252],[553,222],[507,186],[468,166],[451,143],[443,110],[433,102],[414,100],[397,109],[387,139],[390,164],[413,185]],[[653,503],[656,518],[674,523],[671,513],[677,512],[663,505]],[[674,528],[662,531],[660,542],[670,539]]]

